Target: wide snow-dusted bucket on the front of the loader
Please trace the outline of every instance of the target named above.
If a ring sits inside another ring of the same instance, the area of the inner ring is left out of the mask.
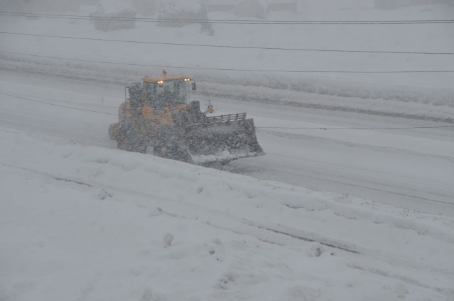
[[[186,145],[196,164],[230,161],[265,153],[258,145],[253,119],[246,113],[208,117],[186,127]]]

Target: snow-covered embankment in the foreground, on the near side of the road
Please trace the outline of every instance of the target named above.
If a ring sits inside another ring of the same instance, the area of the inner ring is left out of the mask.
[[[444,216],[16,131],[0,141],[3,300],[454,296]]]

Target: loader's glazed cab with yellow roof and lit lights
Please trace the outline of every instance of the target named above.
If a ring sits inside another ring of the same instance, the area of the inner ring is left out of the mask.
[[[166,76],[161,78],[143,78],[142,80],[145,89],[145,103],[152,106],[152,108],[189,104],[190,78]]]

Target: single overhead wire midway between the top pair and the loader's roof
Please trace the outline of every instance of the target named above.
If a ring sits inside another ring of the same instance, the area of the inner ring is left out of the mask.
[[[237,49],[260,49],[260,50],[289,50],[289,51],[314,51],[314,52],[362,52],[362,53],[387,53],[387,54],[454,54],[454,52],[397,52],[397,51],[366,51],[366,50],[322,50],[322,49],[302,49],[302,48],[280,48],[280,47],[247,47],[247,46],[229,46],[229,45],[202,45],[202,44],[184,44],[184,43],[162,43],[147,41],[125,41],[104,38],[78,38],[73,36],[49,36],[45,34],[22,34],[17,32],[0,31],[0,34],[13,34],[19,36],[42,36],[46,38],[69,38],[74,40],[86,41],[105,41],[121,43],[140,43],[154,45],[175,45],[175,46],[193,46],[193,47],[216,47],[216,48],[237,48]]]

